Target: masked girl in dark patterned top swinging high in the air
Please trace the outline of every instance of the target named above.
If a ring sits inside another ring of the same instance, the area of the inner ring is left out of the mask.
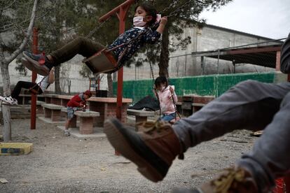
[[[116,68],[115,71],[120,69],[120,67],[123,66],[123,64],[130,59],[130,57],[132,57],[132,55],[134,55],[134,53],[145,43],[156,43],[158,41],[163,33],[165,24],[167,23],[167,17],[162,17],[159,19],[157,17],[158,15],[156,9],[150,4],[142,3],[134,9],[134,27],[128,29],[123,34],[120,34],[120,36],[118,36],[118,38],[116,38],[116,40],[108,46],[108,49],[115,48],[123,43],[127,43],[128,41],[136,38],[143,30],[146,30],[146,32],[141,36],[141,38],[134,41],[134,43],[111,51],[111,55],[116,59],[116,61],[120,59],[118,62],[118,68]],[[158,23],[159,20],[160,23],[156,30],[149,28]],[[105,46],[100,43],[93,42],[88,38],[78,37],[67,43],[67,45],[64,45],[62,48],[51,52],[50,55],[43,56],[34,55],[26,51],[22,52],[24,57],[28,60],[27,62],[27,60],[24,59],[22,60],[22,63],[27,67],[27,69],[35,71],[43,76],[48,76],[48,73],[53,66],[60,65],[62,62],[67,62],[69,59],[78,54],[83,55],[83,57],[90,57],[104,48]]]

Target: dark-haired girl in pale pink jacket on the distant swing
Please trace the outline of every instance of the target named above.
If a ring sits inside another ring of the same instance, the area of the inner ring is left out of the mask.
[[[166,77],[159,76],[156,78],[153,93],[159,99],[160,112],[162,114],[160,120],[167,122],[174,120],[176,117],[174,103],[177,103],[177,94],[174,92],[174,87],[168,85]]]

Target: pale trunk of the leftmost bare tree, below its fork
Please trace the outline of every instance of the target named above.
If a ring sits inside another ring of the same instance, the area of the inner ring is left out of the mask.
[[[1,60],[3,61],[3,60]],[[8,65],[1,64],[1,76],[3,81],[3,92],[4,96],[10,96],[10,76],[8,72]],[[11,115],[10,115],[10,106],[2,105],[2,116],[4,122],[4,142],[11,141]]]

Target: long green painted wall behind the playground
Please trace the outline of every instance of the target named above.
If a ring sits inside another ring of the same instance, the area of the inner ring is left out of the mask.
[[[230,87],[244,80],[258,80],[263,83],[286,81],[286,75],[276,72],[235,73],[209,76],[191,76],[170,78],[170,85],[175,86],[178,96],[197,94],[200,96],[219,96]],[[113,83],[113,94],[116,95],[117,83]],[[133,99],[136,103],[144,96],[153,96],[153,80],[129,80],[123,83],[123,97]]]

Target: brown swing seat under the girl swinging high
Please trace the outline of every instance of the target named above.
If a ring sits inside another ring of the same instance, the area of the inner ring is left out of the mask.
[[[83,63],[89,67],[92,73],[112,73],[118,70],[118,62],[106,48],[83,59]]]

